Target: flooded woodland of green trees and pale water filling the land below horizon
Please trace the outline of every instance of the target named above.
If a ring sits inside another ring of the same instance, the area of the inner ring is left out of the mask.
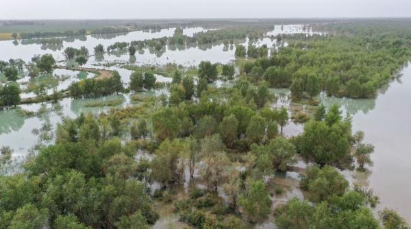
[[[34,189],[0,197],[0,214],[33,203],[48,228],[62,215],[84,228],[379,228],[389,208],[411,223],[410,34],[410,21],[301,19],[0,40],[0,89],[19,88],[10,106],[0,90],[0,196]],[[299,225],[299,203],[319,215]]]

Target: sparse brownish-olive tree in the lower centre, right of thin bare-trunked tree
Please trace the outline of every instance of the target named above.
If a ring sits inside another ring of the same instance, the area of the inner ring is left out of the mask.
[[[227,174],[225,167],[229,165],[229,158],[225,152],[212,152],[203,158],[204,166],[201,169],[201,175],[206,180],[209,190],[217,190],[217,187]]]

